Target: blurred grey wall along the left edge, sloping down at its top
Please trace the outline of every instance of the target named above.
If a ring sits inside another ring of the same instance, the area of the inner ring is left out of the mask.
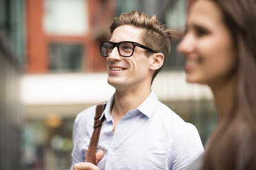
[[[0,169],[19,169],[23,115],[19,101],[21,66],[0,36]]]

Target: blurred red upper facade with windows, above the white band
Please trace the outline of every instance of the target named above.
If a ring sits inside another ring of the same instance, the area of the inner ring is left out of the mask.
[[[105,69],[105,60],[100,58],[98,44],[100,40],[109,38],[109,25],[116,15],[116,1],[27,0],[26,5],[27,73]],[[78,24],[74,24],[72,17],[80,18],[76,21]],[[69,25],[74,26],[68,29]],[[80,32],[77,33],[77,29]],[[65,56],[68,51],[75,52]],[[71,58],[77,63],[70,66]],[[61,65],[61,62],[64,64]]]

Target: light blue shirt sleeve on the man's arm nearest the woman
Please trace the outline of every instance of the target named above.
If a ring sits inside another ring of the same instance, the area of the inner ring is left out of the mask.
[[[173,153],[173,170],[186,169],[204,152],[198,130],[191,123],[187,123],[185,130],[180,134]]]

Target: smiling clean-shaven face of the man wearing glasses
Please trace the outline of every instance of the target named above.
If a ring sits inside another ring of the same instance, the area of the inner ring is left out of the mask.
[[[142,45],[140,39],[144,29],[131,25],[121,25],[117,27],[110,41],[133,41]],[[149,58],[145,54],[145,49],[135,47],[134,54],[129,58],[124,58],[118,53],[117,47],[107,57],[107,82],[117,90],[138,90],[150,86],[152,71],[150,71]]]

